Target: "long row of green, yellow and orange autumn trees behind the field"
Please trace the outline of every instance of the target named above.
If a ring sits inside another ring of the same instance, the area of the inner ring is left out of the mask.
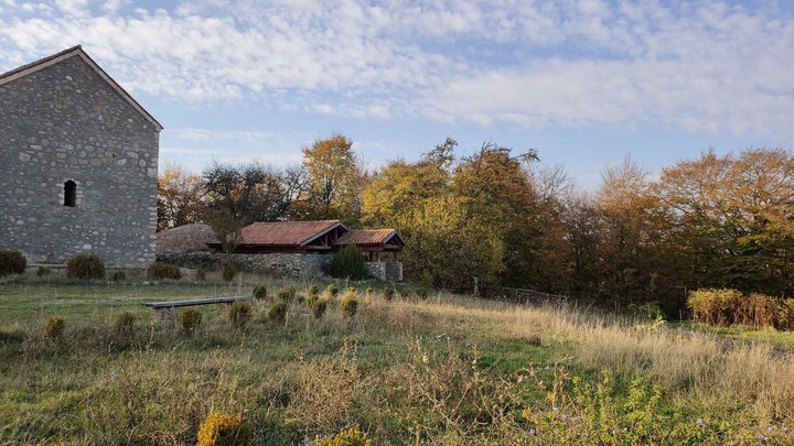
[[[352,141],[303,149],[301,166],[214,163],[201,175],[168,167],[159,226],[226,213],[242,222],[339,218],[406,238],[406,274],[437,287],[482,283],[599,302],[657,302],[673,313],[686,290],[794,295],[794,156],[713,151],[652,177],[635,162],[608,167],[593,194],[537,153],[485,143],[455,154],[448,139],[409,162],[367,172]]]

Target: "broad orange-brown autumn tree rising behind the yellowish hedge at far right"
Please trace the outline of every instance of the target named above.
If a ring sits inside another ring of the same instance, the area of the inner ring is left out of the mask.
[[[713,150],[662,172],[658,193],[699,285],[793,294],[794,156]]]

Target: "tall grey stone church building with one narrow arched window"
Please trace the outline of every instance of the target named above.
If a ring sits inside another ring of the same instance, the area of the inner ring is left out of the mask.
[[[0,248],[153,262],[161,130],[79,46],[0,74]]]

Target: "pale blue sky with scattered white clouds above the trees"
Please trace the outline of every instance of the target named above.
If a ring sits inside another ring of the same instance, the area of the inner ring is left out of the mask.
[[[791,0],[0,0],[0,72],[76,44],[196,172],[333,132],[371,168],[535,149],[588,189],[627,154],[794,150]]]

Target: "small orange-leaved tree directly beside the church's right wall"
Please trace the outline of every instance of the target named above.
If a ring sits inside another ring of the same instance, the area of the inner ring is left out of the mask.
[[[158,230],[201,221],[206,215],[203,181],[178,164],[158,178]]]

